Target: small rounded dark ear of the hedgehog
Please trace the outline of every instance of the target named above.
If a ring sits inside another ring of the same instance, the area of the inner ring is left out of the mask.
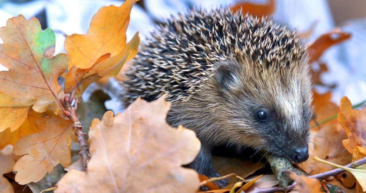
[[[238,70],[236,62],[222,63],[216,69],[215,79],[220,91],[229,91],[239,87]]]

